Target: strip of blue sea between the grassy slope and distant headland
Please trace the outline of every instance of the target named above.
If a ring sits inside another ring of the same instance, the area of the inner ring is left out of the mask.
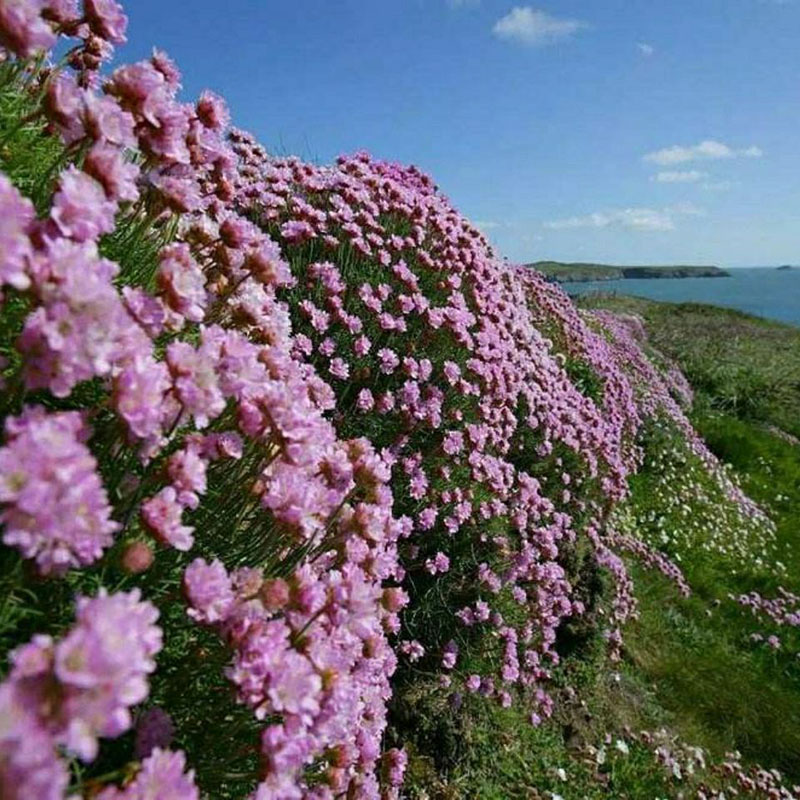
[[[729,269],[730,278],[630,278],[565,283],[571,294],[603,291],[666,300],[710,303],[800,326],[800,269],[772,267]]]

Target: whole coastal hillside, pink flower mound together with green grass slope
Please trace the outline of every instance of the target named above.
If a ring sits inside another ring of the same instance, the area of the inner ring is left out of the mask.
[[[0,0],[0,797],[800,798],[797,331],[579,309],[126,25]]]

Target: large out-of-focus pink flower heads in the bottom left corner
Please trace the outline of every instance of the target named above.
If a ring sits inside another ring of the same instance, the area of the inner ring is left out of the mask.
[[[130,708],[147,697],[162,647],[157,618],[138,590],[101,589],[78,598],[76,623],[62,639],[37,635],[14,650],[0,684],[3,797],[63,797],[67,771],[57,748],[92,761],[99,738],[130,728]]]

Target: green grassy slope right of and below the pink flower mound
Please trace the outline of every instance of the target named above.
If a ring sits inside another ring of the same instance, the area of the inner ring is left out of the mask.
[[[778,583],[800,593],[800,446],[775,433],[799,432],[800,331],[705,306],[589,302],[645,318],[653,343],[695,387],[694,423],[769,509],[776,539],[737,528],[685,442],[650,431],[623,515],[646,539],[666,531],[662,549],[680,563],[692,597],[631,564],[640,616],[626,632],[623,663],[610,672],[596,639],[569,654],[558,680],[578,694],[559,690],[555,717],[539,728],[520,711],[474,697],[457,708],[429,707],[424,684],[417,685],[408,701],[416,719],[427,720],[420,750],[444,758],[434,764],[412,750],[411,797],[635,800],[694,796],[700,779],[713,785],[700,767],[679,780],[630,735],[662,726],[712,759],[739,750],[745,764],[778,768],[800,783],[800,631],[757,619],[728,596],[758,590],[772,597]],[[725,552],[730,541],[738,551]],[[786,566],[780,579],[761,563],[767,551]],[[753,633],[779,634],[781,649],[753,642]]]

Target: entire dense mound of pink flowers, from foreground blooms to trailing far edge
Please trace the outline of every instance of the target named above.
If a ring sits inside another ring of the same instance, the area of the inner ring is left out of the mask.
[[[159,51],[101,75],[126,24],[115,0],[0,0],[22,120],[0,119],[2,577],[41,622],[3,629],[0,793],[397,797],[398,664],[538,723],[597,599],[585,563],[615,585],[615,657],[619,551],[688,591],[609,531],[643,422],[723,473],[629,322],[508,267],[413,167],[269,157],[213,93],[181,102]],[[166,710],[120,769],[124,737],[100,740],[151,686]],[[243,772],[206,768],[206,715]]]

